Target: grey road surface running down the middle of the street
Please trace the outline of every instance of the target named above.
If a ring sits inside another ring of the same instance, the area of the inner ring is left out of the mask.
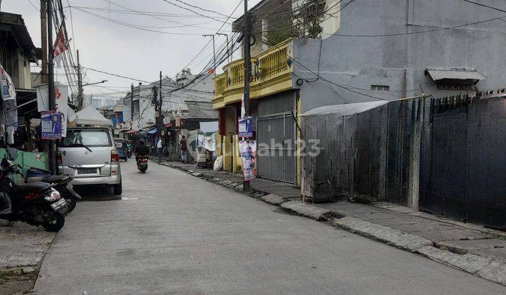
[[[181,171],[122,170],[122,199],[80,202],[67,217],[37,294],[506,294]]]

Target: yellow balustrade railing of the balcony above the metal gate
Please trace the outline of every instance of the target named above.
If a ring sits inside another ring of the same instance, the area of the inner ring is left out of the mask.
[[[252,58],[252,75],[250,87],[261,88],[267,81],[273,81],[284,75],[291,78],[292,56],[290,46],[292,39],[268,48]],[[244,88],[244,60],[235,60],[223,67],[223,74],[214,78],[214,99],[220,99],[228,93],[242,92]]]

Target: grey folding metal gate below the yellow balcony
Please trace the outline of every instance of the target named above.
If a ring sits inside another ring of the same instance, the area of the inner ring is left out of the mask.
[[[296,91],[261,98],[257,117],[258,176],[295,183]]]

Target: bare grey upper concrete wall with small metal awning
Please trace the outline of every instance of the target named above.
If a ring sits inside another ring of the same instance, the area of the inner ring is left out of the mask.
[[[506,7],[502,0],[482,2]],[[294,39],[294,88],[301,89],[302,110],[339,103],[412,97],[422,91],[434,96],[462,92],[438,91],[434,81],[424,74],[427,67],[473,67],[487,77],[476,85],[478,89],[503,88],[506,82],[500,65],[506,61],[506,51],[503,50],[506,48],[506,22],[493,20],[413,34],[502,15],[460,0],[355,1],[342,10],[341,27],[335,34],[400,35],[332,35],[305,42]],[[316,80],[316,75],[311,72],[319,72],[333,84]],[[297,79],[308,81],[297,86]],[[389,91],[372,91],[371,85],[386,85]]]

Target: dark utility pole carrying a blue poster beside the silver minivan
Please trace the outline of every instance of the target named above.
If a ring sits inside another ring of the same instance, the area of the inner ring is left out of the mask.
[[[49,110],[54,111],[56,107],[54,96],[54,60],[53,60],[53,0],[47,1],[47,39],[48,39],[48,94]],[[49,140],[49,163],[51,173],[58,175],[56,166],[56,140]]]

